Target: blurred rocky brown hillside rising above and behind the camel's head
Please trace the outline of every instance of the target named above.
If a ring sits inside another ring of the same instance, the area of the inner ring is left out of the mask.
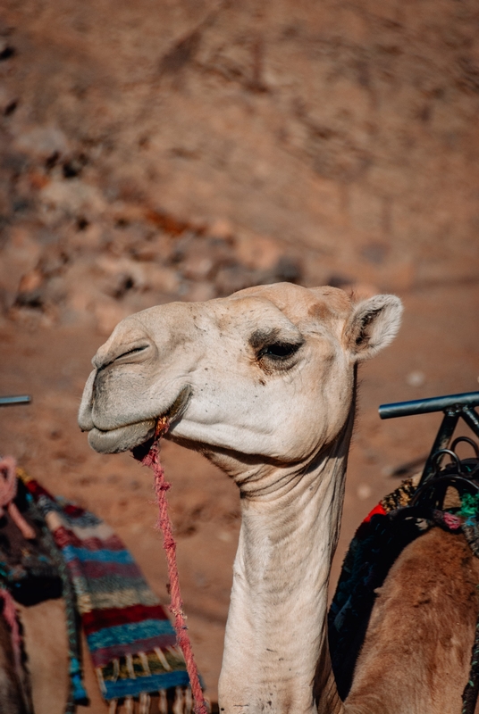
[[[5,0],[5,315],[479,265],[474,0]]]

